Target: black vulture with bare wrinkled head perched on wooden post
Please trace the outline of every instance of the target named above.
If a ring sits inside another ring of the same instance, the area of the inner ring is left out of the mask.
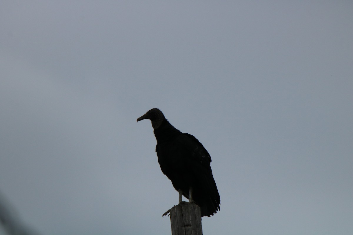
[[[211,156],[196,137],[176,129],[164,117],[161,110],[154,108],[137,118],[137,122],[150,119],[157,140],[156,154],[164,175],[172,181],[182,196],[201,209],[201,217],[214,215],[220,210],[218,192],[211,169]],[[167,215],[168,210],[163,214]]]

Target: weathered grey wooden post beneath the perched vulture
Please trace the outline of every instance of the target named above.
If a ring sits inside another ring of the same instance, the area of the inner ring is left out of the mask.
[[[172,235],[202,235],[201,210],[195,203],[182,203],[170,209]]]

